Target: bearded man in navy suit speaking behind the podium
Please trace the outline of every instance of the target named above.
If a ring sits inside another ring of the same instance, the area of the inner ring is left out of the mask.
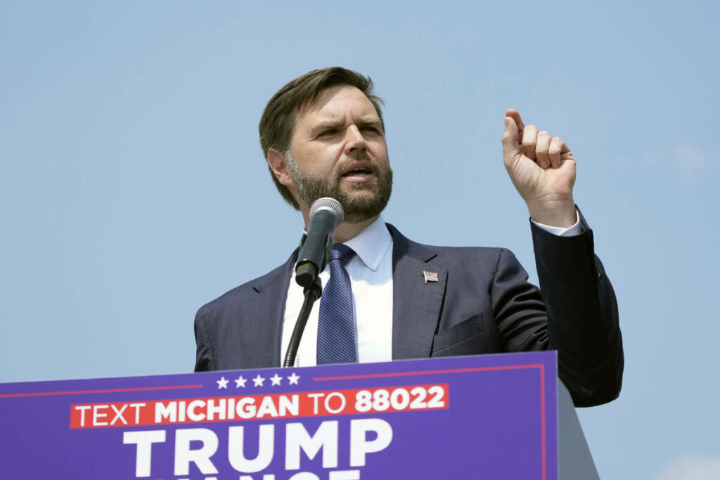
[[[616,398],[617,304],[572,200],[576,160],[567,145],[506,112],[503,157],[531,215],[540,293],[508,250],[420,245],[382,222],[392,170],[379,103],[369,78],[324,68],[280,89],[260,123],[272,178],[305,227],[322,196],[346,212],[333,242],[354,255],[346,271],[355,361],[550,348],[576,405]],[[196,371],[280,365],[302,303],[296,255],[199,309]],[[328,276],[320,274],[323,284]],[[316,304],[297,365],[315,364],[316,351],[320,358],[318,322]]]

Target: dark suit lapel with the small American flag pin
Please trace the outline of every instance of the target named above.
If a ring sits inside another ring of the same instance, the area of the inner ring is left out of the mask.
[[[437,253],[411,242],[388,224],[392,235],[392,359],[428,358],[443,304],[447,269]],[[427,282],[423,272],[438,274]]]

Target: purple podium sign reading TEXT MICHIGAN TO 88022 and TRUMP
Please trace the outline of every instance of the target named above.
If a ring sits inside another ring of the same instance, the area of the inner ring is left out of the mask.
[[[554,352],[0,384],[8,479],[557,479]]]

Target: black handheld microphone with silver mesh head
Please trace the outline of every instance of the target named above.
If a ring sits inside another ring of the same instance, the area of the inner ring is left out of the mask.
[[[310,206],[310,226],[303,237],[295,263],[295,281],[305,288],[311,286],[318,273],[328,264],[333,248],[333,232],[345,217],[343,207],[328,196],[317,199]]]

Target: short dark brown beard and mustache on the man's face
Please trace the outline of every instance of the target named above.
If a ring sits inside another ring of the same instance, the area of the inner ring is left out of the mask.
[[[392,194],[392,170],[390,167],[387,170],[381,169],[375,163],[372,168],[375,181],[369,184],[350,184],[351,188],[357,191],[375,189],[374,195],[369,198],[341,190],[340,175],[334,178],[320,178],[295,170],[293,178],[297,186],[297,195],[300,196],[300,204],[310,208],[313,201],[329,196],[343,206],[346,222],[360,223],[377,217],[384,210]]]

